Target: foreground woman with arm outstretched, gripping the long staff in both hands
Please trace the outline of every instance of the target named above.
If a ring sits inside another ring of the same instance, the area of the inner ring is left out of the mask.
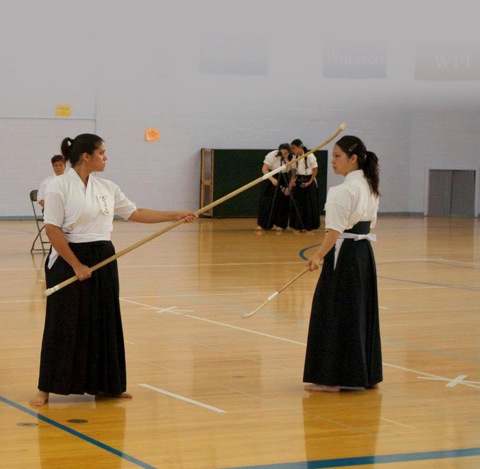
[[[45,262],[47,288],[76,275],[78,282],[47,297],[38,392],[41,406],[50,393],[130,398],[126,392],[125,348],[116,261],[92,272],[115,253],[113,217],[140,223],[185,219],[191,211],[158,211],[137,206],[113,182],[93,173],[105,169],[105,143],[97,135],[65,138],[61,145],[72,169],[53,179],[45,196],[45,231],[51,249]]]

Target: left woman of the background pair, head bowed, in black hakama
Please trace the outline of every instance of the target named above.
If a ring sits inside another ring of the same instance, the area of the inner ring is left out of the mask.
[[[273,150],[265,155],[262,173],[267,174],[292,159],[292,150],[288,143],[282,143],[278,150]],[[260,197],[258,199],[257,227],[255,230],[286,230],[290,207],[290,172],[285,168],[260,184]]]

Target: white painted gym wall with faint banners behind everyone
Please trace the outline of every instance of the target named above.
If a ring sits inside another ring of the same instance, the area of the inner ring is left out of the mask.
[[[31,215],[28,193],[66,136],[104,138],[104,176],[139,206],[197,209],[202,147],[311,148],[342,122],[380,158],[381,210],[423,213],[428,168],[480,169],[475,7],[6,0],[0,217]],[[347,58],[357,63],[335,62]],[[72,117],[55,116],[63,103]]]

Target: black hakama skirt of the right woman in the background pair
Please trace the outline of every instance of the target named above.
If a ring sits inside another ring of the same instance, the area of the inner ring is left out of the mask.
[[[318,209],[318,187],[316,181],[308,187],[302,187],[310,176],[297,176],[290,204],[290,228],[294,230],[318,230],[320,211]]]

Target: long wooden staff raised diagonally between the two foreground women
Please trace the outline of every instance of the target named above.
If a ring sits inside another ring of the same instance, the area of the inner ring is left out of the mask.
[[[292,161],[289,161],[288,163],[284,164],[283,166],[280,166],[277,169],[274,169],[273,171],[270,171],[267,174],[264,174],[263,176],[260,176],[259,178],[249,182],[248,184],[245,184],[244,186],[240,187],[239,189],[234,190],[233,192],[230,192],[227,195],[224,195],[223,197],[220,197],[218,200],[215,200],[209,205],[206,205],[205,207],[202,207],[201,209],[197,210],[195,213],[197,215],[201,215],[204,212],[207,212],[213,207],[216,207],[217,205],[225,202],[228,199],[231,199],[232,197],[235,197],[236,195],[240,194],[241,192],[246,191],[247,189],[250,189],[250,187],[255,186],[256,184],[259,184],[262,181],[265,181],[265,179],[268,179],[269,177],[273,176],[274,174],[277,174],[287,167],[295,164],[297,161],[302,160],[303,158],[306,158],[308,155],[311,153],[314,153],[317,150],[320,150],[320,148],[323,148],[325,145],[328,145],[335,137],[337,137],[338,134],[343,132],[345,130],[345,124],[341,124],[336,132],[327,140],[322,142],[320,145],[317,147],[313,148],[312,150],[309,150],[307,153],[304,153],[302,156],[299,156],[298,158],[293,159]],[[181,225],[182,223],[185,223],[185,219],[178,220],[174,223],[171,223],[170,225],[166,226],[165,228],[162,228],[159,231],[156,231],[155,233],[152,233],[150,236],[147,236],[146,238],[141,239],[140,241],[137,241],[136,243],[132,244],[131,246],[128,246],[127,248],[117,252],[113,256],[107,257],[107,259],[99,262],[98,264],[95,264],[93,267],[90,267],[91,271],[94,272],[95,270],[100,269],[104,265],[109,264],[110,262],[113,262],[114,260],[118,259],[121,256],[124,256],[125,254],[129,253],[130,251],[133,251],[134,249],[137,249],[138,247],[142,246],[145,243],[148,243],[149,241],[152,241],[152,239],[157,238],[158,236],[166,233],[167,231],[170,231],[171,229],[177,227],[178,225]],[[59,283],[58,285],[55,285],[54,287],[47,288],[43,294],[45,296],[50,296],[52,293],[57,292],[58,290],[61,290],[62,288],[66,287],[67,285],[70,285],[71,283],[75,282],[78,280],[78,277],[74,275],[73,277],[70,277],[67,280],[64,280],[63,282]]]

